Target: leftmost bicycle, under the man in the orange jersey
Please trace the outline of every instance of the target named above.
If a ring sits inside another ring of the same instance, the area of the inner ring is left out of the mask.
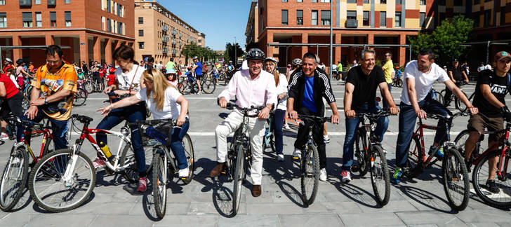
[[[20,118],[7,118],[6,120],[11,125],[25,125],[26,127],[20,142],[13,143],[11,154],[2,174],[0,182],[0,209],[3,211],[13,209],[20,200],[27,184],[29,166],[34,166],[43,156],[53,151],[53,146],[51,146],[53,135],[51,135],[52,128],[49,126],[50,121],[41,124],[32,121],[22,121]],[[30,139],[25,138],[37,137],[39,135],[43,135],[43,140],[39,156],[36,156],[30,146]],[[30,164],[28,163],[28,157],[33,160]]]

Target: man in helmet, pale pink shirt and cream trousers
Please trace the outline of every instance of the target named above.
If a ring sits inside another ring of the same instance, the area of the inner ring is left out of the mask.
[[[251,106],[265,106],[258,118],[248,118],[248,131],[252,151],[252,195],[261,195],[261,181],[263,179],[263,136],[265,135],[265,123],[270,111],[277,104],[277,88],[274,76],[263,71],[265,53],[258,48],[253,48],[246,53],[248,70],[237,71],[229,81],[229,85],[218,95],[218,104],[225,108],[227,102],[236,97],[236,104],[241,108]],[[234,109],[225,121],[220,123],[215,130],[217,165],[211,170],[211,177],[218,177],[227,167],[227,135],[239,128],[243,121],[243,114]]]

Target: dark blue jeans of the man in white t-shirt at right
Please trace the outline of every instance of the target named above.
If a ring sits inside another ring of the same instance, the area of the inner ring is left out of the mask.
[[[443,116],[451,115],[451,111],[446,109],[442,104],[431,98],[431,93],[427,97],[419,102],[420,109],[423,109],[427,114],[440,114]],[[411,105],[404,104],[401,102],[399,111],[399,134],[397,135],[396,143],[396,165],[398,167],[404,167],[406,160],[408,159],[408,151],[410,147],[411,137],[413,135],[413,128],[417,116]],[[437,124],[437,132],[434,135],[434,142],[439,143],[442,139],[445,139],[446,128],[445,121],[439,120]]]

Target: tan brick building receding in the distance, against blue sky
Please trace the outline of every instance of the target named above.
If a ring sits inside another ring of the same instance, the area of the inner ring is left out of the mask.
[[[173,57],[175,62],[185,64],[185,55],[181,53],[185,45],[196,43],[206,46],[204,33],[198,32],[156,0],[135,1],[135,33],[136,60],[152,56],[155,62],[166,64]]]

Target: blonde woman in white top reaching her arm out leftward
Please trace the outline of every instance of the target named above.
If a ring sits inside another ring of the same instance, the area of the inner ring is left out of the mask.
[[[105,115],[112,111],[112,109],[131,106],[140,101],[145,101],[147,109],[151,111],[155,120],[175,120],[176,124],[180,127],[173,128],[172,142],[168,148],[172,150],[175,158],[178,160],[179,177],[188,177],[190,171],[188,170],[185,149],[183,144],[181,144],[188,128],[190,128],[190,123],[187,121],[188,101],[175,86],[167,82],[167,78],[161,71],[147,69],[142,76],[145,88],[142,88],[140,92],[105,106],[98,111],[102,111],[102,114]]]

